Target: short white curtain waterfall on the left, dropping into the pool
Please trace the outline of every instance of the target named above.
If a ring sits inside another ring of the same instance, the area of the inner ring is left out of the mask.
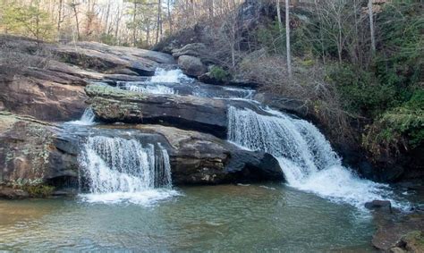
[[[160,145],[135,139],[89,137],[80,156],[81,175],[88,180],[89,202],[127,201],[151,205],[176,195],[169,156]]]

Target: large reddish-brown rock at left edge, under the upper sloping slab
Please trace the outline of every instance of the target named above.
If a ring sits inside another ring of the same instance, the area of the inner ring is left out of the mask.
[[[85,82],[77,77],[53,73],[0,66],[0,102],[4,110],[45,121],[79,118],[87,106],[84,102],[88,97],[83,86],[68,84]]]

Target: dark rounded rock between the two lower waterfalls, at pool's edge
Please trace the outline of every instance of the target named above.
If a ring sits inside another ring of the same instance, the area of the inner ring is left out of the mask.
[[[274,156],[237,148],[215,136],[159,125],[137,125],[142,132],[159,134],[169,143],[173,183],[216,184],[236,181],[282,181]]]

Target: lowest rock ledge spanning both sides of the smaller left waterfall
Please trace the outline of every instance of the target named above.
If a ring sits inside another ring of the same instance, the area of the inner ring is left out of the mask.
[[[0,164],[4,164],[0,185],[16,189],[44,183],[69,187],[67,183],[78,181],[82,144],[93,135],[161,143],[170,155],[176,185],[284,179],[273,156],[242,150],[206,133],[159,125],[122,125],[70,134],[68,127],[0,113]]]

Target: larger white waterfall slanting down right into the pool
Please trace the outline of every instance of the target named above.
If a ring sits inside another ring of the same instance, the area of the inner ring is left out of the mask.
[[[277,111],[266,112],[270,115],[230,106],[228,139],[276,156],[290,186],[359,208],[368,201],[391,197],[386,185],[360,179],[343,167],[341,158],[313,124]]]

